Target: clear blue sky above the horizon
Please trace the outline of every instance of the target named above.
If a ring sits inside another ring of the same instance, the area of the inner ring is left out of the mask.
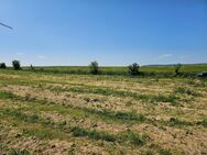
[[[0,62],[207,63],[207,0],[0,0]]]

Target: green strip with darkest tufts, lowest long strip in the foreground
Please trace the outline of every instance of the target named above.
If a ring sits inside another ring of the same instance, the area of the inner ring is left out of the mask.
[[[18,111],[18,109],[15,110],[14,109],[1,109],[0,113],[6,117],[11,117],[15,119],[17,121],[23,121],[30,124],[40,124],[44,126],[44,128],[33,126],[33,128],[23,129],[24,135],[36,136],[39,139],[46,139],[46,140],[51,140],[54,137],[63,139],[63,134],[61,134],[58,131],[63,133],[65,132],[68,133],[69,131],[73,136],[87,136],[88,139],[91,139],[91,140],[101,140],[101,141],[107,141],[107,142],[124,143],[124,141],[128,141],[135,145],[143,145],[145,144],[145,141],[146,141],[146,139],[143,139],[142,135],[139,135],[132,132],[124,132],[124,133],[119,133],[115,135],[115,134],[109,134],[107,132],[89,130],[89,129],[85,129],[80,126],[68,126],[68,124],[59,125],[52,121],[50,121],[48,123],[47,120],[43,118],[40,118],[37,115],[34,117],[34,114],[22,113]],[[64,125],[67,125],[67,126],[63,128]]]

